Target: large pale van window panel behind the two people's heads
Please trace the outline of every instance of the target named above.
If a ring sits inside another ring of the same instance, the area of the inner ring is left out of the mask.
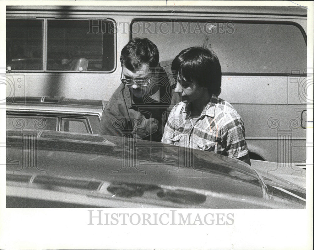
[[[306,68],[305,39],[290,24],[138,21],[132,24],[132,36],[156,44],[163,66],[181,50],[205,45],[217,54],[222,72],[291,73]]]

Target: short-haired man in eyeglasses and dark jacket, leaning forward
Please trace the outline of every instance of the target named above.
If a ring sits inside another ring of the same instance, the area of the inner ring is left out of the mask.
[[[101,117],[99,134],[161,141],[171,84],[149,39],[131,39],[121,51],[121,85]]]

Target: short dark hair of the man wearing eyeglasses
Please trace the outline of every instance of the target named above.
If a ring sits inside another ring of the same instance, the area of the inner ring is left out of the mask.
[[[159,63],[157,46],[147,38],[133,38],[122,49],[120,62],[131,71],[140,68],[143,64],[156,67]]]

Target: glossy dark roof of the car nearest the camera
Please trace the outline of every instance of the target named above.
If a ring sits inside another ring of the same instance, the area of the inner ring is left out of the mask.
[[[43,189],[54,190],[53,186],[58,186],[56,190],[64,190],[66,199],[72,197],[68,196],[73,192],[71,188],[83,198],[99,197],[99,201],[86,200],[84,203],[96,207],[303,207],[268,200],[263,179],[242,161],[144,140],[60,131],[7,130],[6,145],[11,161],[21,157],[21,148],[17,144],[21,143],[23,133],[35,134],[36,168],[45,173],[19,174],[20,165],[7,164],[7,185],[10,186],[7,195],[10,196],[24,193],[23,197],[30,198],[28,194],[31,194],[36,198],[39,193],[46,192]],[[191,156],[193,167],[190,164],[180,166],[179,150],[181,155]],[[123,167],[123,162],[129,164]],[[25,169],[32,171],[34,168]],[[21,183],[24,188],[19,188]],[[32,193],[25,188],[41,190]],[[142,194],[123,196],[139,190],[145,193],[143,197]],[[45,194],[42,197],[49,200]]]

